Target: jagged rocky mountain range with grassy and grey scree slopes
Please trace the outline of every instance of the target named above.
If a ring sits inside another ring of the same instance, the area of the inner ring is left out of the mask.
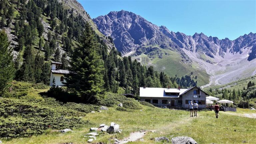
[[[198,85],[226,84],[256,74],[256,34],[235,40],[169,31],[128,11],[112,11],[93,19],[117,50],[170,76],[193,72]],[[203,86],[204,85],[204,86]]]

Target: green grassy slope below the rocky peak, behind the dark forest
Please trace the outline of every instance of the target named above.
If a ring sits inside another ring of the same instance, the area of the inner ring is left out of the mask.
[[[158,50],[148,55],[141,54],[134,57],[134,59],[138,59],[143,65],[154,66],[157,71],[164,71],[170,77],[175,75],[182,77],[193,72],[193,75],[198,77],[195,79],[198,86],[209,83],[209,75],[199,64],[195,62],[192,62],[191,65],[184,63],[182,56],[177,52],[166,49]],[[159,58],[159,54],[162,54],[162,58]]]

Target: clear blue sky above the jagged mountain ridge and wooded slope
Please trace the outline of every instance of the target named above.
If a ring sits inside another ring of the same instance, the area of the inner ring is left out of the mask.
[[[91,18],[110,11],[126,10],[144,17],[170,31],[234,40],[250,32],[256,33],[256,0],[200,1],[109,1],[78,0]]]

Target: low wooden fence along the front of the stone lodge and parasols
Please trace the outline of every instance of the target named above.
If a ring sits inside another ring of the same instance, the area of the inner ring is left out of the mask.
[[[186,110],[189,111],[188,107],[180,107],[180,106],[171,106],[169,104],[166,105],[161,105],[161,104],[153,104],[155,107],[160,107],[160,108],[169,108],[169,109],[176,109],[176,110]],[[205,108],[198,108],[198,111],[213,111],[213,107],[205,107]],[[232,107],[224,107],[224,111],[233,111],[236,112],[236,108]]]

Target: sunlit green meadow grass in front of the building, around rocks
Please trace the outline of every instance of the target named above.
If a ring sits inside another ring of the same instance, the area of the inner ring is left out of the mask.
[[[98,127],[105,123],[109,125],[115,122],[123,129],[121,134],[100,134],[94,142],[110,143],[114,142],[111,138],[123,139],[131,132],[139,130],[156,130],[147,132],[143,137],[144,142],[129,142],[129,144],[156,143],[151,138],[166,136],[171,139],[176,136],[189,136],[198,143],[254,143],[256,138],[256,119],[239,117],[220,112],[219,118],[215,118],[213,111],[199,112],[198,117],[189,117],[187,111],[176,111],[169,109],[150,108],[143,106],[143,110],[135,112],[121,112],[110,108],[101,113],[87,114],[84,119],[90,119],[95,124],[74,129],[71,133],[51,132],[50,130],[43,135],[32,136],[29,138],[18,138],[9,143],[86,143],[88,138],[84,137],[89,132],[90,127]],[[236,131],[234,131],[236,130]],[[159,142],[158,142],[159,143]]]

